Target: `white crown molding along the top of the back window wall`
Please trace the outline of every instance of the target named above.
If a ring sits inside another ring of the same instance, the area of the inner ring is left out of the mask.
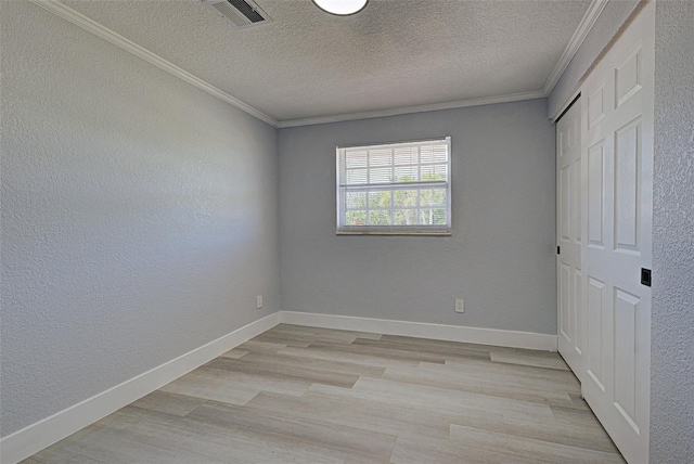
[[[346,113],[333,116],[319,116],[305,119],[286,119],[278,123],[278,128],[312,126],[317,124],[342,123],[355,119],[369,119],[374,117],[399,116],[412,113],[436,112],[441,109],[464,108],[467,106],[491,105],[494,103],[519,102],[522,100],[543,99],[544,94],[540,90],[531,92],[510,93],[507,95],[485,96],[481,99],[458,100],[455,102],[433,103],[428,105],[401,106],[390,109],[375,109],[371,112]]]

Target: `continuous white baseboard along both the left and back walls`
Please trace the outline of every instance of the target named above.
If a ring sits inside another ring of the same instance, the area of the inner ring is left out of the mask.
[[[0,440],[0,462],[17,463],[151,394],[279,323],[556,351],[556,335],[280,311],[86,399]]]

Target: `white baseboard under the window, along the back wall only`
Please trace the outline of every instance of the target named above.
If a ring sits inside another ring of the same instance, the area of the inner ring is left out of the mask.
[[[438,340],[547,351],[556,351],[558,343],[556,335],[536,334],[532,332],[391,321],[386,319],[356,318],[351,315],[316,314],[310,312],[281,311],[280,322],[307,325],[309,327],[339,328],[343,331],[402,335],[408,337],[434,338]]]

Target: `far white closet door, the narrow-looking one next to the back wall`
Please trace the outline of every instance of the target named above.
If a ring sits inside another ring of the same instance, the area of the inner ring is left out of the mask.
[[[556,282],[560,353],[582,379],[581,104],[556,123]]]

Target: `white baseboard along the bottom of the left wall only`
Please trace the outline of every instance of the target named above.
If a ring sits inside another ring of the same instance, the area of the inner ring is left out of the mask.
[[[252,322],[0,440],[0,462],[17,463],[151,394],[280,323],[280,312]]]

